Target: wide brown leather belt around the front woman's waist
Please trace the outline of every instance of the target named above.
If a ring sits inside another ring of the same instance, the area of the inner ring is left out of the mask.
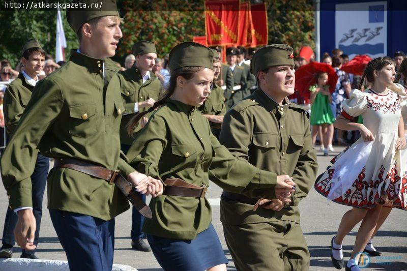
[[[164,181],[165,189],[163,194],[170,196],[203,198],[207,193],[208,187],[191,185],[182,179],[173,178]]]

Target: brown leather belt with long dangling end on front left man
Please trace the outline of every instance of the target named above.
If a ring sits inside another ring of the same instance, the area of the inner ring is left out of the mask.
[[[95,164],[78,160],[75,158],[55,158],[54,167],[70,168],[100,179],[106,180],[110,185],[114,184],[133,204],[138,212],[147,218],[152,218],[151,209],[141,199],[140,195],[133,188],[133,185],[127,181],[119,170],[110,170]]]

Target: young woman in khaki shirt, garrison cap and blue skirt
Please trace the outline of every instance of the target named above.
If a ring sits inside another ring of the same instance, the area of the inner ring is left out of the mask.
[[[288,175],[259,170],[232,156],[196,110],[211,92],[213,51],[185,42],[169,54],[168,93],[127,153],[139,172],[160,178],[165,189],[150,203],[153,218],[143,231],[164,270],[226,270],[227,259],[211,224],[205,198],[209,179],[225,190],[289,201]],[[147,111],[148,112],[148,111]],[[129,124],[129,131],[143,116]]]

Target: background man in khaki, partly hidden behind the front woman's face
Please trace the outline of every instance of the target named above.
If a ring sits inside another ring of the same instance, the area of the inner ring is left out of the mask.
[[[214,50],[214,49],[212,49]],[[216,50],[214,50],[213,58],[213,71],[214,71],[214,80],[212,83],[211,93],[208,95],[207,99],[198,110],[201,114],[206,117],[209,121],[209,124],[212,128],[212,133],[219,138],[220,127],[223,122],[223,116],[226,113],[226,106],[223,102],[223,89],[218,86],[215,82],[220,75],[221,62]]]

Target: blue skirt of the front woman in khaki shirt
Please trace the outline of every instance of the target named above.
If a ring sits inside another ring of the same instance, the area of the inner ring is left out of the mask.
[[[147,234],[158,263],[165,271],[203,271],[228,263],[212,223],[193,240],[162,238]]]

